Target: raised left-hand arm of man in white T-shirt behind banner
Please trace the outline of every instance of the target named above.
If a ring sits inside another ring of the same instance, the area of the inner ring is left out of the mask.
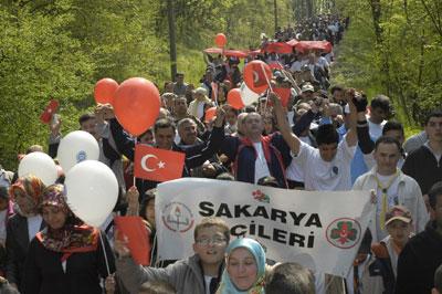
[[[297,155],[299,153],[301,140],[291,130],[280,97],[275,93],[270,93],[269,98],[273,102],[273,109],[275,111],[277,126],[280,128],[281,135],[283,135],[283,138],[287,143],[292,153]]]

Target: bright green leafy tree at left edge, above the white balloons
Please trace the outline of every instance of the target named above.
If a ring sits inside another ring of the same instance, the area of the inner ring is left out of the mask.
[[[0,10],[0,154],[2,164],[13,162],[17,153],[43,144],[46,129],[39,115],[50,97],[69,106],[88,92],[95,64],[81,51],[64,24],[71,13],[31,13],[13,6]]]

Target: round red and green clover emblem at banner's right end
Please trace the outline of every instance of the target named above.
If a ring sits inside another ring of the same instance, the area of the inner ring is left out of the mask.
[[[360,239],[360,224],[348,218],[334,220],[326,230],[328,243],[340,249],[354,248]]]

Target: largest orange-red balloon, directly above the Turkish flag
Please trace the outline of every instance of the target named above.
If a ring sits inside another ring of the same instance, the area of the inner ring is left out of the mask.
[[[115,116],[134,136],[141,135],[155,124],[160,106],[158,88],[143,77],[124,81],[115,93]]]

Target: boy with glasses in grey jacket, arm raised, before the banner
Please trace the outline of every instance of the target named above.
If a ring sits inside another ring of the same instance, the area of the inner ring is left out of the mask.
[[[166,269],[143,267],[134,262],[127,241],[115,240],[118,256],[117,275],[130,293],[137,293],[145,282],[169,282],[179,294],[213,294],[224,267],[224,252],[230,241],[230,229],[219,218],[204,218],[194,228],[194,255],[170,264]]]

